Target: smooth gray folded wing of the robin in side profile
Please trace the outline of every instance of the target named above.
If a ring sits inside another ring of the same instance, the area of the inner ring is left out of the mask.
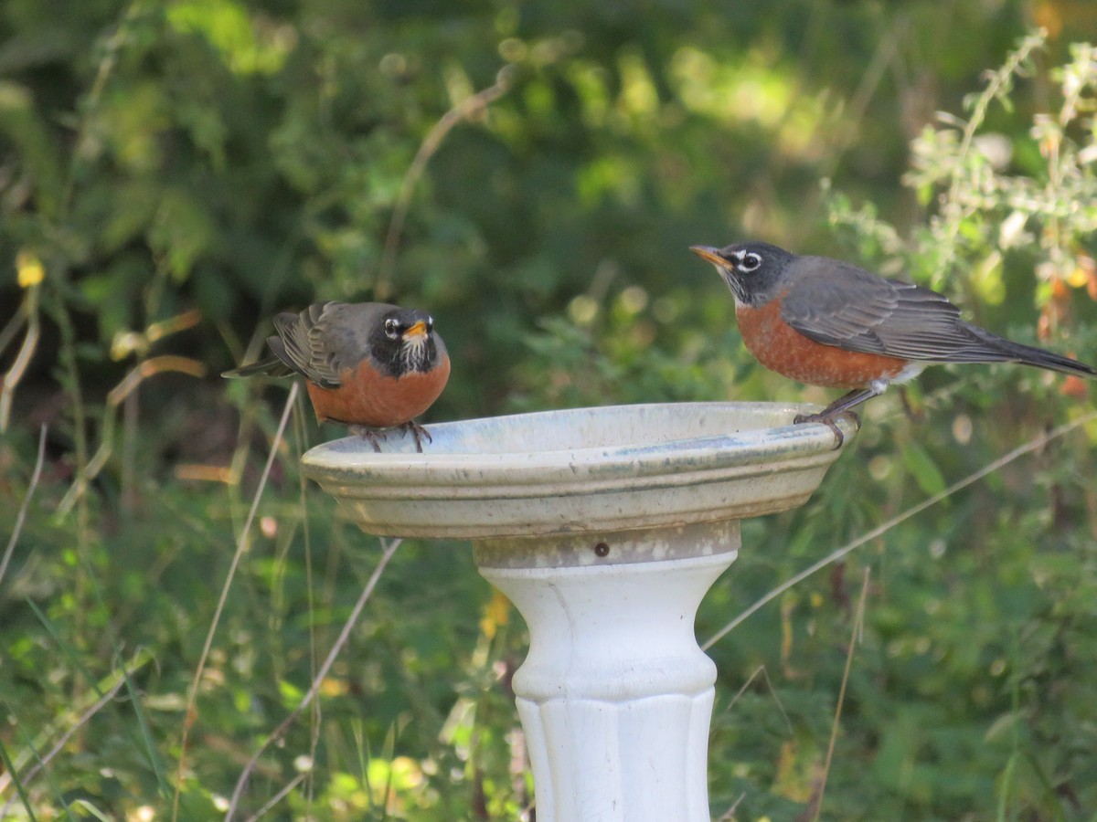
[[[1014,343],[964,322],[928,288],[819,256],[799,258],[785,276],[792,285],[781,317],[815,342],[938,363],[1017,358]]]

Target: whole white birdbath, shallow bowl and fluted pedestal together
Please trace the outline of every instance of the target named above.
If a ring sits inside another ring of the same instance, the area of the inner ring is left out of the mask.
[[[716,669],[693,617],[739,521],[804,503],[840,453],[826,425],[791,424],[811,410],[547,411],[432,424],[423,454],[393,433],[382,454],[348,437],[302,461],[370,534],[472,539],[525,618],[538,822],[709,822]]]

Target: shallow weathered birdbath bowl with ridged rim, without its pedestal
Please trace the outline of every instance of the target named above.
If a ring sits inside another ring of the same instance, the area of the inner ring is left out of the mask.
[[[739,520],[802,504],[838,457],[814,406],[666,402],[429,426],[417,453],[391,432],[318,445],[306,476],[381,536],[499,539]],[[856,426],[840,420],[846,444]]]

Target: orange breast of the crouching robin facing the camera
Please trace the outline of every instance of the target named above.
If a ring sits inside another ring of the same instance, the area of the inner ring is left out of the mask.
[[[450,378],[450,357],[443,355],[429,372],[411,372],[400,377],[382,375],[365,358],[339,377],[342,380],[339,388],[307,384],[316,419],[387,429],[410,422],[430,408]]]

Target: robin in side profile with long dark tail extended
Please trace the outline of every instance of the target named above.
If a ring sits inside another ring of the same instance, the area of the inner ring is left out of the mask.
[[[1084,363],[964,322],[937,292],[839,260],[798,256],[766,242],[690,251],[715,265],[732,289],[739,333],[759,363],[808,385],[852,389],[822,412],[794,420],[829,425],[838,446],[836,415],[927,365],[1024,363],[1097,377]]]

